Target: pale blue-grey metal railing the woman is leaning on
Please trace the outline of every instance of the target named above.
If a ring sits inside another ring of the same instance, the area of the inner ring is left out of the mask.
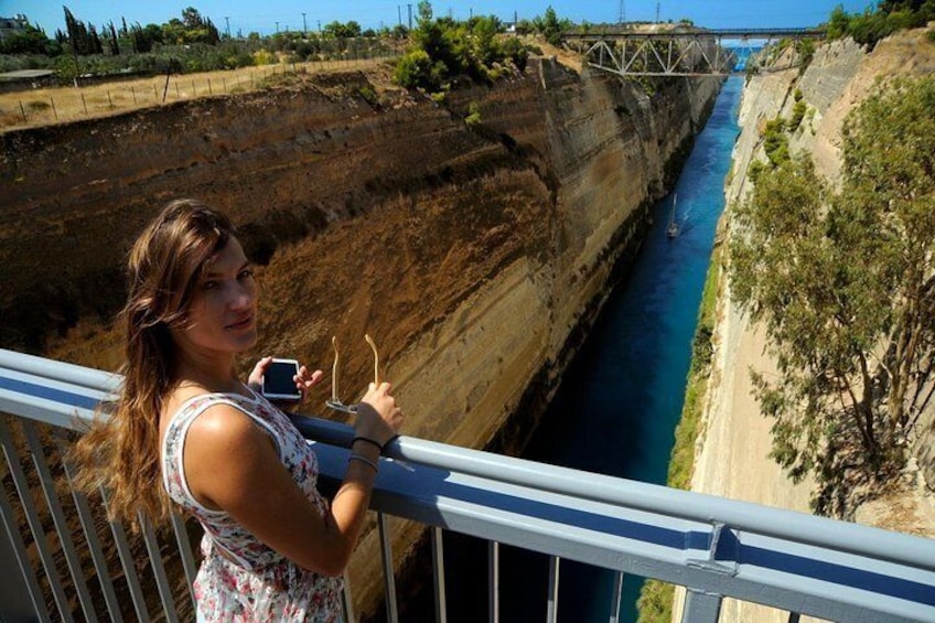
[[[62,445],[118,383],[115,375],[0,351],[0,411],[21,429],[18,436],[0,418],[8,468],[0,474],[0,620],[119,621],[125,598],[139,620],[175,621],[192,611],[195,559],[184,522],[174,519],[168,541],[143,523],[142,545],[135,545],[121,526],[103,526],[106,497],[89,502],[56,486],[71,479]],[[314,445],[322,485],[333,485],[353,430],[294,421]],[[632,573],[686,587],[683,621],[692,623],[717,621],[724,597],[787,611],[791,620],[935,622],[931,539],[408,437],[391,443],[380,463],[372,506],[389,621],[398,620],[386,525],[395,516],[430,529],[438,621],[447,620],[441,537],[454,530],[490,544],[491,621],[498,619],[505,544],[549,557],[549,621],[558,615],[560,561],[572,559],[614,572],[612,621],[623,577]],[[148,568],[135,562],[141,552]],[[119,558],[120,569],[108,556]],[[173,586],[171,577],[184,582]]]

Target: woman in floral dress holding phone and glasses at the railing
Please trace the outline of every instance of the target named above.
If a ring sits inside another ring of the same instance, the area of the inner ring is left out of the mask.
[[[329,506],[314,453],[251,388],[270,358],[249,386],[237,378],[237,355],[257,341],[257,286],[235,234],[223,214],[180,200],[137,240],[122,393],[109,422],[78,444],[83,480],[109,490],[115,518],[135,524],[144,512],[161,523],[174,503],[202,523],[198,620],[340,620],[340,576],[402,415],[389,384],[370,384]],[[303,366],[297,387],[321,377]]]

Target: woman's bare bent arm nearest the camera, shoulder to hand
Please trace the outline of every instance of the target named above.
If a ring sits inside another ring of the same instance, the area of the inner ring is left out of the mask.
[[[370,386],[356,434],[383,445],[402,421],[389,385]],[[272,549],[329,576],[344,571],[366,518],[379,449],[356,441],[344,481],[322,517],[280,463],[270,438],[234,407],[217,405],[189,431],[185,474],[193,495],[224,509]]]

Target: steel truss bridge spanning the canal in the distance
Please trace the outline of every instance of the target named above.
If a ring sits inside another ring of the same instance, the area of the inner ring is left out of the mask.
[[[824,39],[819,29],[720,29],[635,32],[620,29],[594,33],[565,33],[562,43],[587,57],[589,66],[620,76],[726,76],[742,73],[738,51],[753,55],[757,46],[783,40],[793,45],[786,54],[759,60],[759,71],[798,66],[802,40]],[[733,42],[726,45],[724,42]]]

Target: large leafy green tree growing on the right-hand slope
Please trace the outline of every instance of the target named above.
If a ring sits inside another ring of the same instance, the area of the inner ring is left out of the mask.
[[[900,140],[894,140],[900,137]],[[935,345],[935,78],[895,80],[842,131],[831,193],[804,158],[757,176],[735,213],[735,300],[766,327],[775,378],[754,375],[772,456],[812,473],[815,509],[901,466],[931,397]]]

